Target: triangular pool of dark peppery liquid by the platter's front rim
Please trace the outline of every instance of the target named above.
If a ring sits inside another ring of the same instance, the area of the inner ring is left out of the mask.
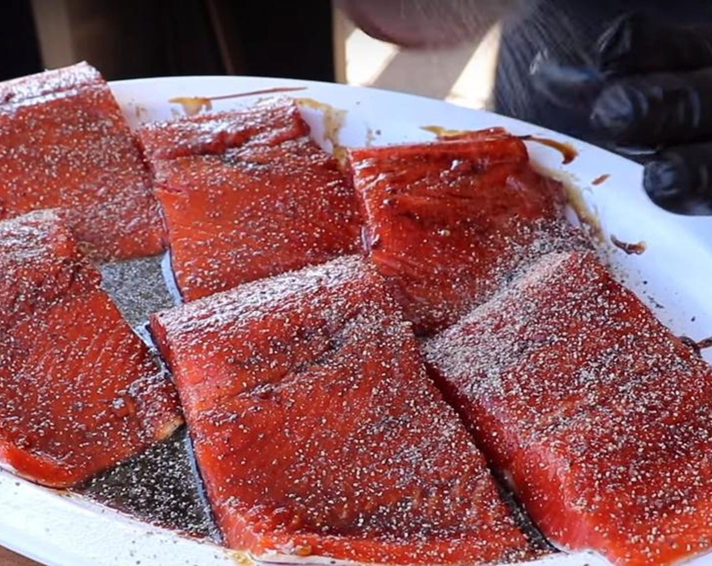
[[[185,427],[75,491],[148,523],[219,540]]]

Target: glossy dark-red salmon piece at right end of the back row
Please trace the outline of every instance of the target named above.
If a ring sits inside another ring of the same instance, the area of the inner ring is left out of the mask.
[[[367,252],[418,333],[454,323],[526,258],[572,239],[560,185],[501,129],[349,155]]]

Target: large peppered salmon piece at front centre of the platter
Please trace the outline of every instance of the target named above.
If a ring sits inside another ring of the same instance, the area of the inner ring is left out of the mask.
[[[390,564],[533,553],[360,259],[154,315],[226,543]]]

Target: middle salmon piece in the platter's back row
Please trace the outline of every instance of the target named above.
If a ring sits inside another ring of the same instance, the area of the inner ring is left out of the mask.
[[[142,130],[184,300],[356,251],[352,185],[308,131],[293,100]]]

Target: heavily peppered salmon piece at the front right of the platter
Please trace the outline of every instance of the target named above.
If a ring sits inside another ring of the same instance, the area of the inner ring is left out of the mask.
[[[712,548],[712,368],[592,255],[545,256],[425,355],[550,540],[619,565]]]

